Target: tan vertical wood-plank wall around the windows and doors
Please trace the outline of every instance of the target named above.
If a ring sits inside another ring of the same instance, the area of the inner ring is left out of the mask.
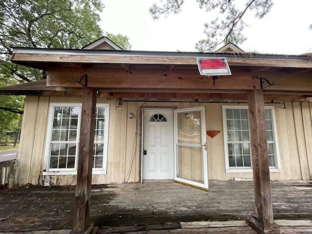
[[[49,103],[52,102],[79,103],[81,98],[44,96],[26,98],[18,156],[19,184],[43,184],[46,126]],[[98,103],[110,104],[107,174],[93,175],[93,184],[139,181],[141,120],[137,117],[141,105],[175,106],[176,108],[205,106],[207,130],[221,131],[214,138],[207,136],[209,179],[230,180],[234,177],[252,178],[253,176],[252,173],[225,172],[222,103],[123,101],[122,107],[119,107],[116,100],[108,101],[106,98],[98,98]],[[285,102],[285,107],[284,104],[274,104],[274,107],[281,172],[271,173],[271,179],[312,179],[312,103]],[[134,113],[134,118],[129,118],[129,113]],[[51,185],[73,185],[76,183],[76,176],[50,176],[50,183]]]

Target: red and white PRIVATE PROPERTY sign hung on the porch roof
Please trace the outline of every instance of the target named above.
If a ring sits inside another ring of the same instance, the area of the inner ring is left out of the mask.
[[[197,65],[200,75],[203,76],[231,75],[229,64],[226,58],[197,58]]]

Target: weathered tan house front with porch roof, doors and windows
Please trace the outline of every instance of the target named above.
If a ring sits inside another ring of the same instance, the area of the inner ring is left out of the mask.
[[[200,76],[196,58],[206,57],[227,58],[232,76]],[[208,54],[132,52],[102,38],[81,50],[15,48],[12,61],[48,74],[1,90],[27,95],[21,185],[76,184],[85,86],[97,88],[93,184],[174,179],[208,189],[209,180],[253,178],[249,89],[264,93],[270,178],[312,179],[309,56],[249,55],[231,44]]]

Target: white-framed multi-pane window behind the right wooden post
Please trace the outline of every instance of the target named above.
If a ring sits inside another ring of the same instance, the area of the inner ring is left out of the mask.
[[[222,106],[226,172],[252,172],[248,106]],[[280,171],[274,107],[265,107],[270,171]]]

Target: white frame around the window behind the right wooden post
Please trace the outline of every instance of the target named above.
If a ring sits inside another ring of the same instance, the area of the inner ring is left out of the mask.
[[[226,173],[252,173],[253,172],[253,163],[251,167],[239,167],[233,168],[229,165],[228,158],[228,133],[227,133],[227,122],[226,122],[226,110],[227,109],[247,109],[248,106],[237,106],[237,105],[222,105],[222,120],[223,120],[223,137],[224,137],[224,156],[225,156],[225,171]],[[280,163],[280,154],[279,154],[279,144],[277,137],[277,128],[276,128],[276,118],[275,118],[275,109],[274,106],[265,106],[265,110],[271,110],[272,113],[272,123],[273,123],[273,140],[275,143],[275,167],[270,167],[270,172],[281,172],[281,163]],[[250,118],[249,112],[247,111],[248,116],[248,128],[249,128],[249,138],[250,138]],[[252,152],[251,154],[251,162],[252,162]]]

